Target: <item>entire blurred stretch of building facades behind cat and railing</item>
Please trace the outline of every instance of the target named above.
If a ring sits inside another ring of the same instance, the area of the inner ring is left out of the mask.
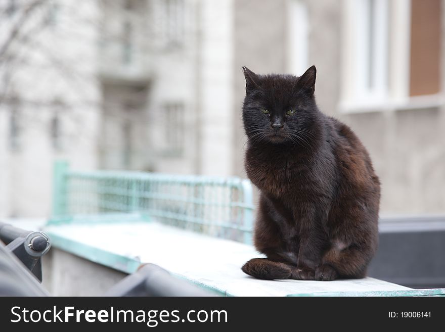
[[[50,214],[52,166],[245,176],[245,81],[317,66],[382,214],[445,212],[441,0],[0,0],[0,217]]]

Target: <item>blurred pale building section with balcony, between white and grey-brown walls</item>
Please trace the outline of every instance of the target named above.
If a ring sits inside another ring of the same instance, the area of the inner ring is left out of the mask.
[[[105,3],[101,166],[233,172],[233,2]],[[126,34],[126,35],[125,35]]]

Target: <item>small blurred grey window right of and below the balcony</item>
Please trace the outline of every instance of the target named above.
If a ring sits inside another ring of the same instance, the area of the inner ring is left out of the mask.
[[[165,104],[162,110],[164,128],[164,151],[166,156],[178,157],[184,150],[184,105],[181,103]]]

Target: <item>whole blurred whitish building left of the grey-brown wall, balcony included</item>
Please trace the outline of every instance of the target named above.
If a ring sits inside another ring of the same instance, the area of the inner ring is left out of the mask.
[[[0,215],[48,216],[58,158],[233,172],[233,2],[11,0],[2,10],[2,41],[14,38],[0,69]]]

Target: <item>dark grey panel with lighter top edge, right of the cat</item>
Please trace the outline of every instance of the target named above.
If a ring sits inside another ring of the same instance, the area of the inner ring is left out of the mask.
[[[387,218],[368,275],[412,288],[445,287],[445,217]]]

